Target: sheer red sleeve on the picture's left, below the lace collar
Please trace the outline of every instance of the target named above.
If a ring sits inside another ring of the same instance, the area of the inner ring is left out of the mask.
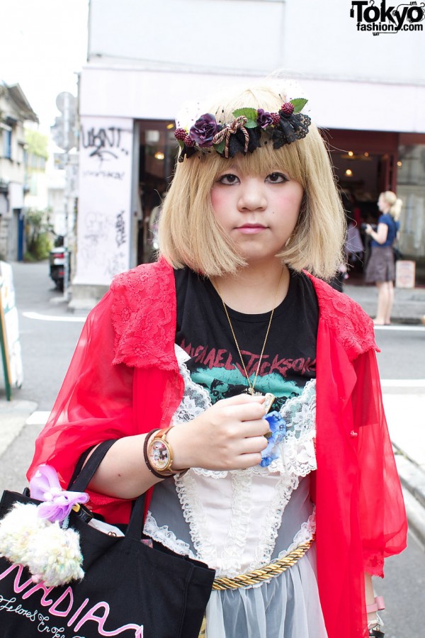
[[[86,320],[50,418],[35,442],[28,478],[36,466],[48,463],[65,486],[86,449],[103,440],[135,433],[133,369],[113,364],[111,302],[108,292]],[[111,498],[94,493],[91,500],[98,511],[112,503]]]

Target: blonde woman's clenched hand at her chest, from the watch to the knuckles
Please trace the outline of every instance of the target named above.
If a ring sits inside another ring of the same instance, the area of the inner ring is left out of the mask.
[[[173,427],[167,435],[173,469],[232,470],[258,465],[269,431],[263,403],[263,396],[240,394],[217,401],[195,419]]]

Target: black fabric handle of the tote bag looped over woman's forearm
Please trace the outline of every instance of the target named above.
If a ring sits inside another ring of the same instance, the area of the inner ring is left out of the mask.
[[[109,439],[107,441],[103,441],[99,444],[94,452],[89,457],[89,460],[86,462],[84,467],[79,471],[81,466],[81,459],[84,462],[88,452],[84,452],[81,456],[79,463],[77,464],[77,469],[74,472],[77,474],[77,478],[72,476],[71,481],[69,482],[68,489],[74,492],[84,492],[86,491],[87,486],[89,485],[91,479],[93,478],[98,466],[101,464],[103,459],[106,457],[106,453],[113,446],[116,439]],[[132,513],[130,516],[130,522],[128,523],[127,530],[125,532],[125,536],[128,538],[133,538],[140,540],[142,537],[142,526],[143,526],[143,511],[145,509],[145,494],[141,494],[138,498],[133,502]]]

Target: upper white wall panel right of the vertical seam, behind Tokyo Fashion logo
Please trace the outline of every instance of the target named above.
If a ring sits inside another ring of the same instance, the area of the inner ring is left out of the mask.
[[[375,0],[375,6],[379,8],[380,4],[380,0]],[[387,8],[399,4],[386,1]],[[288,0],[285,67],[297,69],[307,77],[424,84],[425,21],[421,22],[421,32],[374,36],[370,31],[357,30],[350,9],[351,0]],[[385,108],[382,101],[359,106]]]

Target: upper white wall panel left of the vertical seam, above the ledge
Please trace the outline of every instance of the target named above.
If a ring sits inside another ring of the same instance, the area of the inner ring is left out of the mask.
[[[91,0],[98,55],[263,72],[280,64],[285,0]]]

